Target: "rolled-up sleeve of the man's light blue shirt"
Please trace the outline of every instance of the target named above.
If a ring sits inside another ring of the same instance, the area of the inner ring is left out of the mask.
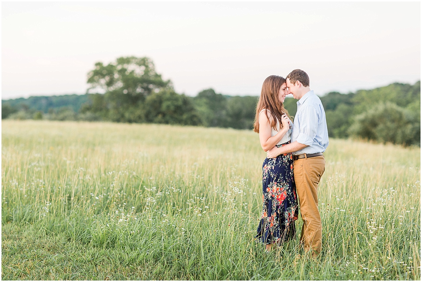
[[[300,113],[300,134],[298,141],[300,144],[310,146],[314,143],[318,129],[317,110],[312,106],[305,106]]]

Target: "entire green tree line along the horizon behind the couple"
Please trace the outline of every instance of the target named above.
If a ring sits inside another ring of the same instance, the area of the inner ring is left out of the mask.
[[[258,97],[205,89],[195,97],[176,93],[147,57],[97,62],[84,95],[2,100],[2,119],[50,119],[180,124],[251,129]],[[101,93],[101,94],[100,94]],[[420,146],[420,81],[320,97],[330,137],[359,137]],[[284,102],[294,116],[296,101]]]

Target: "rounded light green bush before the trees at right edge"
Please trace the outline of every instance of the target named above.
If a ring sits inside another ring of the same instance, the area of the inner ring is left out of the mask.
[[[383,143],[420,146],[420,122],[417,122],[417,116],[391,102],[381,102],[357,115],[349,132],[363,139]]]

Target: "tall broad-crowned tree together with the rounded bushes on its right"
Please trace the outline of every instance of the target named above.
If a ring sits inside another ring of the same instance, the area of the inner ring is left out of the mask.
[[[88,74],[91,89],[105,94],[91,94],[81,113],[94,113],[103,120],[116,122],[151,122],[162,124],[201,124],[192,101],[177,94],[171,81],[156,73],[151,59],[120,57],[116,62],[95,64]]]

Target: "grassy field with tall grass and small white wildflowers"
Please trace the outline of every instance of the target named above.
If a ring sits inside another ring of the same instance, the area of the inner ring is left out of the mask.
[[[2,121],[2,279],[420,279],[420,148],[330,140],[316,260],[254,242],[264,159],[251,131]]]

